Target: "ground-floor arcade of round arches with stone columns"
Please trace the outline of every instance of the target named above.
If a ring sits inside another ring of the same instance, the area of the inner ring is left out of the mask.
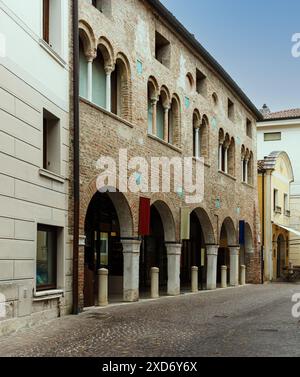
[[[109,299],[123,297],[134,302],[140,293],[150,292],[152,267],[159,268],[161,294],[178,295],[189,289],[191,269],[199,268],[199,289],[216,289],[221,266],[228,267],[231,286],[239,285],[239,267],[247,265],[247,255],[253,253],[253,238],[249,224],[245,226],[245,244],[237,245],[234,222],[226,218],[219,241],[208,214],[202,208],[190,213],[190,235],[181,243],[176,239],[172,211],[163,201],[150,208],[150,233],[137,237],[134,219],[125,196],[119,192],[97,192],[91,199],[85,217],[84,246],[84,306],[97,302],[97,273],[109,272]]]

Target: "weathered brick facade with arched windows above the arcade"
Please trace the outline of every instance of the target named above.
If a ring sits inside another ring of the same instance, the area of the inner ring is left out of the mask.
[[[105,14],[88,1],[80,1],[80,35],[86,55],[96,55],[100,46],[105,64],[123,67],[121,75],[120,116],[80,100],[80,234],[88,205],[96,192],[95,181],[99,171],[96,162],[101,155],[118,159],[119,150],[128,151],[128,158],[144,156],[180,157],[193,155],[193,118],[195,111],[199,122],[205,124],[201,148],[205,157],[205,194],[202,203],[190,206],[191,212],[199,210],[200,222],[207,244],[220,244],[222,224],[233,224],[234,234],[228,235],[233,245],[238,244],[238,225],[245,220],[251,229],[254,251],[247,254],[247,280],[260,281],[260,245],[258,243],[259,215],[257,203],[256,166],[256,116],[225,82],[213,67],[207,64],[184,38],[162,19],[147,1],[111,1],[111,13]],[[155,59],[155,32],[170,42],[169,67]],[[107,56],[106,56],[107,55]],[[196,91],[196,69],[206,76],[205,94]],[[173,144],[148,134],[148,83],[153,77],[156,95],[164,91],[165,101],[176,99],[179,116],[173,124]],[[190,79],[187,80],[187,77]],[[124,79],[124,80],[123,80]],[[190,85],[188,85],[188,83]],[[228,99],[234,103],[234,119],[227,114]],[[252,138],[246,134],[246,120],[252,122]],[[229,136],[234,143],[229,152],[229,172],[219,171],[219,135]],[[253,154],[251,185],[242,183],[242,145]],[[118,187],[117,187],[118,188]],[[125,193],[132,217],[132,237],[138,236],[139,197],[151,198],[151,203],[164,203],[166,213],[173,218],[174,239],[180,243],[180,209],[186,207],[176,193],[133,194]],[[163,216],[162,216],[163,217]],[[168,217],[166,217],[167,219]],[[172,226],[172,224],[166,224]],[[227,231],[230,232],[230,227]],[[70,230],[72,233],[72,230]],[[81,248],[83,258],[84,248]],[[83,291],[83,266],[80,266],[80,287]],[[82,294],[80,295],[82,300]]]

